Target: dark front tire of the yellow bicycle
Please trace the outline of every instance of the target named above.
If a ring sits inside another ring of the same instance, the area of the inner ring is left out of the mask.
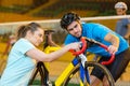
[[[100,68],[100,69],[104,72],[104,74],[106,75],[109,86],[115,86],[115,81],[114,81],[110,72],[109,72],[108,69],[106,69],[103,64],[98,63],[98,62],[95,62],[95,61],[88,61],[88,62],[86,62],[84,67],[86,67],[86,68],[88,68],[88,67],[91,67],[91,68],[98,67],[98,68]],[[69,86],[70,81],[74,80],[73,76],[74,76],[78,71],[79,71],[79,64],[77,64],[77,66],[74,68],[74,70],[70,71],[70,73],[68,74],[68,76],[65,78],[65,81],[64,81],[64,83],[63,83],[63,86]],[[78,78],[79,78],[79,76],[78,76]],[[87,82],[87,81],[86,81],[86,82]],[[77,86],[78,86],[78,85],[77,85]],[[79,86],[80,86],[80,85],[79,85]],[[83,86],[87,86],[87,84],[84,83]]]

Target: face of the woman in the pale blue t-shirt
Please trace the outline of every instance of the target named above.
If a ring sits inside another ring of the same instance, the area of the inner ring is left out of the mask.
[[[41,28],[38,28],[35,32],[29,32],[28,40],[35,45],[38,46],[43,42],[44,31]]]

